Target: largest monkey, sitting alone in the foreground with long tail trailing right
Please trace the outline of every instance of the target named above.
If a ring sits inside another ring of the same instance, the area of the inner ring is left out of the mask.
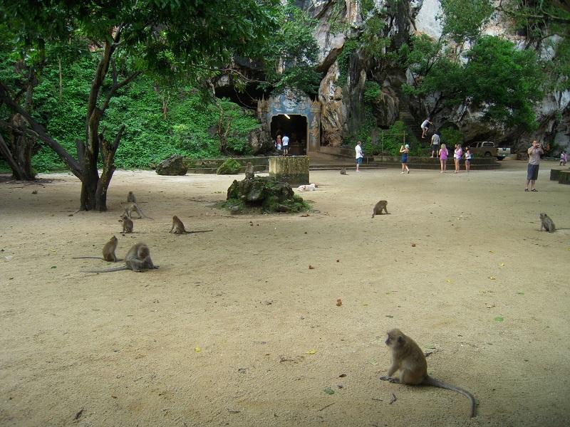
[[[417,386],[420,384],[426,386],[440,387],[461,393],[471,402],[471,417],[475,416],[475,397],[460,387],[452,386],[444,381],[432,378],[427,375],[427,361],[420,346],[413,339],[407,337],[398,329],[388,332],[386,345],[392,350],[392,364],[388,369],[388,375],[380,376],[383,381],[390,381],[397,384],[408,384]],[[395,371],[400,369],[400,378],[393,378]]]

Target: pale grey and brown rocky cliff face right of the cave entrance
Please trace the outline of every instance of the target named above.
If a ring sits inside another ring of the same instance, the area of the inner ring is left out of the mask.
[[[416,133],[428,112],[437,109],[439,112],[432,117],[435,129],[451,123],[461,130],[465,142],[492,139],[517,151],[530,140],[539,139],[570,149],[570,91],[546,93],[542,105],[537,107],[539,127],[534,132],[505,129],[482,122],[482,114],[477,110],[441,109],[436,108],[436,99],[408,97],[402,92],[402,84],[406,77],[412,83],[409,70],[393,69],[394,65],[388,64],[386,58],[367,57],[351,46],[366,31],[371,17],[384,23],[375,36],[390,40],[385,48],[387,53],[398,51],[412,35],[426,34],[437,40],[442,36],[442,23],[436,19],[442,14],[440,0],[297,0],[295,4],[318,21],[314,36],[321,48],[316,68],[323,73],[316,95],[321,103],[321,145],[338,147],[347,137],[355,135],[365,119],[366,82],[373,80],[381,88],[380,95],[372,101],[378,127],[387,128],[400,120]],[[369,10],[363,10],[365,7]],[[509,38],[524,48],[529,41],[512,33],[507,21],[501,14],[494,14],[483,33]],[[348,55],[350,49],[353,52]],[[265,141],[270,142],[266,132],[252,135],[250,144],[254,152],[267,152],[269,144],[266,146]]]

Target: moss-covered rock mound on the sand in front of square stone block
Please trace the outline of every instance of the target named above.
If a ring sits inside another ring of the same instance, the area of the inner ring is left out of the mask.
[[[234,180],[227,189],[227,200],[223,207],[232,213],[248,210],[263,212],[308,211],[309,205],[297,196],[286,182],[279,182],[266,176],[254,179]]]

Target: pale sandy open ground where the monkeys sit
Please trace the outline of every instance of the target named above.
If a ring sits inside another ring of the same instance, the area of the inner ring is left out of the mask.
[[[514,160],[311,172],[310,216],[213,208],[242,176],[116,172],[110,211],[75,215],[69,174],[4,182],[0,426],[569,425],[570,230],[538,218],[570,228],[555,165],[537,193]],[[154,221],[122,236],[129,190]],[[390,215],[371,218],[379,199]],[[172,236],[172,214],[214,231]],[[71,257],[113,234],[118,255],[148,243],[160,270],[81,273],[109,263]],[[393,327],[472,391],[476,418],[460,394],[379,381]]]

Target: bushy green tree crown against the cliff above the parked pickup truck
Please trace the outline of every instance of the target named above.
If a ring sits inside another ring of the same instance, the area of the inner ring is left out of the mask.
[[[533,106],[542,97],[544,74],[531,50],[494,36],[479,38],[465,61],[457,61],[440,43],[413,38],[405,63],[415,84],[403,85],[409,95],[438,96],[443,105],[469,105],[482,112],[482,120],[499,125],[536,126]]]

